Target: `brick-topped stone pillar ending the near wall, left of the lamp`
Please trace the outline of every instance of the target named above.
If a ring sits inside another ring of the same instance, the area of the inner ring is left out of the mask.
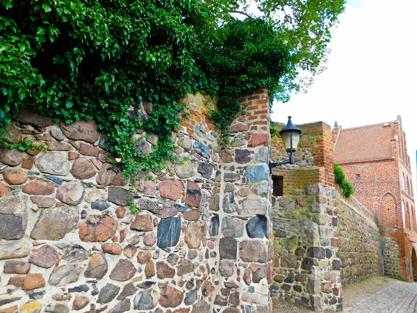
[[[267,313],[272,309],[273,256],[268,91],[256,90],[238,101],[245,111],[231,125],[231,144],[220,151],[220,292],[214,308]]]

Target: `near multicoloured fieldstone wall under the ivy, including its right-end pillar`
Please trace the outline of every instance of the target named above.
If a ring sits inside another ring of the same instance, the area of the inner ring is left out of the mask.
[[[19,112],[10,141],[49,150],[0,151],[0,312],[270,310],[267,90],[240,97],[231,145],[210,99],[185,101],[173,134],[184,163],[134,177],[134,193],[94,122]],[[129,113],[147,118],[152,104]],[[137,139],[145,153],[158,141],[140,129]]]

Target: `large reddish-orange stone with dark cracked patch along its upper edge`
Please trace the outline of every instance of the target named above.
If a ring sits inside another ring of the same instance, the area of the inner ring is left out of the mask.
[[[111,216],[89,216],[79,227],[79,236],[82,241],[106,241],[114,236],[117,222]]]

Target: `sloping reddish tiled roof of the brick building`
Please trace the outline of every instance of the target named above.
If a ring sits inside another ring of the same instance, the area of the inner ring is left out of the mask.
[[[395,122],[341,129],[334,147],[335,163],[393,158]]]

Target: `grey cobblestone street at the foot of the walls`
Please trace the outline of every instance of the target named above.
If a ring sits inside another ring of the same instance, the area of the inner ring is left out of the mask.
[[[377,277],[343,289],[343,312],[416,313],[417,283]],[[273,313],[313,312],[306,307],[274,299]]]

